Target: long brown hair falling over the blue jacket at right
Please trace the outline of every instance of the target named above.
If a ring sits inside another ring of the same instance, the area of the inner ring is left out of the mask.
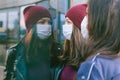
[[[117,56],[120,53],[120,0],[89,0],[89,39],[85,57],[101,53]]]

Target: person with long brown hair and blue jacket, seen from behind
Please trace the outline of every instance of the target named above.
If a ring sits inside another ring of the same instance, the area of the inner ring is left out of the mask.
[[[89,0],[88,5],[89,37],[77,80],[120,80],[120,0]]]

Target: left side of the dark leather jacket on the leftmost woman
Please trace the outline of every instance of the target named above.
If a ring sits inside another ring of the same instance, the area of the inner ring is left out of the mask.
[[[27,68],[24,57],[25,48],[22,43],[11,47],[7,51],[4,80],[27,80]]]

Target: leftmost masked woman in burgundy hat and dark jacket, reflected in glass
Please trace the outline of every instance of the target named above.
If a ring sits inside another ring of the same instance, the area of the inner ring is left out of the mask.
[[[28,6],[24,18],[27,34],[8,50],[4,80],[50,80],[50,54],[54,51],[50,13],[42,6]]]

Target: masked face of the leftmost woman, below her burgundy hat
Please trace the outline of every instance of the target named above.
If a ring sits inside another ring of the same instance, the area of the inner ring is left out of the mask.
[[[51,19],[41,18],[36,23],[36,34],[40,39],[47,39],[52,32]]]

